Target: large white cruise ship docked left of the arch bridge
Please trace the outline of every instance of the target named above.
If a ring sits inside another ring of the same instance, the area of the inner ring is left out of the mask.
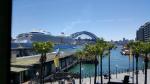
[[[45,42],[51,41],[55,44],[74,44],[75,39],[70,36],[53,36],[45,31],[33,31],[28,33],[19,34],[15,42],[19,43],[32,43],[32,42]]]

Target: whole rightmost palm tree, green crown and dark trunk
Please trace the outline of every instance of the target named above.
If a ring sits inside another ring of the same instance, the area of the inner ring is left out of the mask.
[[[145,61],[145,82],[147,84],[147,68],[148,68],[148,54],[150,53],[150,42],[142,43],[142,53],[144,54]]]

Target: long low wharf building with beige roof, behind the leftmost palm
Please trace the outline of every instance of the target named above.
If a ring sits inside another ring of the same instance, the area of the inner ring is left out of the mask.
[[[63,52],[59,56],[59,65],[61,70],[66,70],[73,66],[76,62],[74,59],[75,52]],[[44,77],[47,77],[56,71],[54,58],[56,53],[47,53],[45,62]],[[40,59],[41,55],[16,57],[11,62],[11,80],[23,83],[36,78],[36,73],[40,73]]]

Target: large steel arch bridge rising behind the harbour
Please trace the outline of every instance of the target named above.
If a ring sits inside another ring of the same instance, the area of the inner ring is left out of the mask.
[[[78,37],[78,36],[80,36],[82,34],[90,36],[92,38],[92,40],[94,40],[94,41],[96,41],[98,39],[98,37],[95,34],[93,34],[91,32],[88,32],[88,31],[76,32],[76,33],[71,34],[70,36],[72,38],[76,38],[76,37]]]

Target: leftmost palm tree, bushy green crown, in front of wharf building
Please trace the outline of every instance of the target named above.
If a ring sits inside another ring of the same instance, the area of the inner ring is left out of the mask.
[[[41,54],[41,57],[39,59],[41,63],[41,74],[40,74],[40,84],[44,84],[44,76],[43,71],[45,69],[45,62],[46,62],[46,53],[52,51],[53,49],[53,43],[52,42],[34,42],[33,49]]]

